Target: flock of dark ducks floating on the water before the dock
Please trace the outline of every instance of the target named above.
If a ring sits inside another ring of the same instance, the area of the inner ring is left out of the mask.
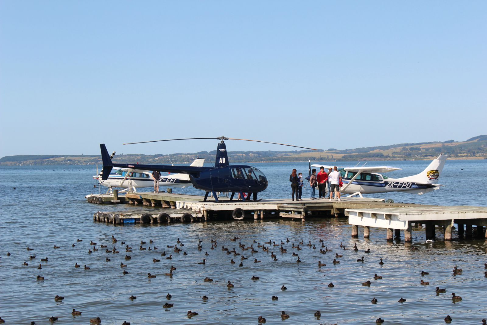
[[[240,238],[239,237],[232,237],[230,238],[230,242],[237,242]],[[83,242],[82,239],[77,239],[76,240],[76,243],[79,245],[80,242]],[[224,247],[222,246],[221,249],[217,249],[219,246],[218,246],[218,243],[216,240],[213,240],[211,239],[210,241],[210,245],[211,247],[209,248],[210,250],[220,250],[223,254],[226,254],[226,255],[231,255],[233,258],[239,258],[241,260],[240,264],[239,264],[239,267],[242,267],[244,264],[244,262],[248,263],[247,260],[248,260],[248,257],[245,257],[244,256],[244,253],[246,254],[247,251],[248,253],[250,254],[253,254],[253,253],[258,253],[260,251],[263,251],[263,252],[270,252],[270,257],[271,257],[271,260],[272,261],[278,261],[277,259],[277,256],[274,254],[274,250],[276,251],[280,251],[281,254],[285,254],[287,253],[287,249],[284,248],[285,245],[287,245],[286,247],[289,247],[289,238],[286,238],[285,242],[284,241],[278,241],[278,243],[276,244],[275,241],[272,241],[272,240],[268,240],[266,242],[264,242],[263,244],[260,244],[260,242],[257,242],[257,241],[253,241],[253,243],[250,244],[250,246],[247,246],[246,244],[242,244],[241,242],[238,243],[238,247],[239,247],[239,251],[236,250],[236,248],[233,248],[233,249],[229,249],[227,247]],[[118,245],[118,240],[112,235],[112,244],[113,245]],[[197,249],[201,252],[203,251],[203,245],[202,245],[203,241],[202,240],[198,240],[198,246],[197,246]],[[146,242],[144,241],[141,241],[140,242],[140,245],[139,245],[139,249],[140,251],[143,251],[143,250],[157,250],[158,248],[153,246],[153,248],[151,248],[149,246],[149,248],[146,248],[146,247],[143,247],[143,245],[145,245]],[[153,244],[153,241],[150,240],[150,244]],[[256,244],[256,247],[254,247],[254,244]],[[90,249],[88,250],[88,254],[92,254],[93,252],[99,250],[96,248],[97,244],[94,243],[93,241],[90,241]],[[131,260],[131,256],[128,254],[128,253],[131,253],[133,252],[132,248],[129,246],[129,244],[127,244],[126,242],[123,242],[121,241],[121,245],[125,245],[125,257],[124,257],[124,260],[125,261],[130,261]],[[323,240],[319,239],[319,244],[321,246],[321,249],[320,249],[320,253],[321,254],[327,254],[328,252],[331,252],[333,251],[332,249],[328,249],[327,247],[324,246],[324,242]],[[299,244],[295,245],[294,243],[292,243],[292,246],[291,248],[294,250],[296,250],[297,252],[299,252],[300,250],[303,249],[302,246],[308,246],[310,249],[317,249],[316,248],[316,245],[315,244],[312,244],[311,241],[309,241],[309,243],[307,244],[304,244],[303,241],[301,240]],[[75,244],[72,244],[72,247],[75,247]],[[117,254],[119,253],[119,250],[117,250],[117,248],[115,246],[113,246],[113,249],[108,249],[108,245],[100,245],[99,246],[100,249],[106,249],[105,252],[106,253],[111,253],[111,254]],[[185,247],[184,244],[181,242],[181,240],[178,238],[177,241],[176,241],[176,244],[173,245],[173,246],[169,246],[167,245],[166,246],[166,249],[172,249],[172,251],[176,254],[179,254],[181,251],[183,251],[182,247]],[[56,246],[54,245],[54,249],[60,249],[59,246]],[[260,250],[259,250],[260,249]],[[355,244],[355,246],[352,248],[352,249],[349,249],[349,248],[346,248],[345,246],[343,246],[343,244],[341,243],[340,244],[340,249],[342,249],[344,252],[346,252],[347,250],[353,250],[354,252],[358,252],[360,249],[357,247],[357,244]],[[34,249],[30,248],[30,247],[27,247],[27,251],[33,251]],[[166,260],[171,260],[172,259],[172,255],[166,253],[166,250],[162,250],[162,253],[160,254],[162,257],[165,257]],[[301,263],[302,261],[300,260],[300,256],[299,254],[296,252],[296,251],[293,251],[293,253],[291,254],[293,257],[296,257],[296,263]],[[371,253],[371,249],[367,249],[367,250],[364,250],[363,251],[364,254],[370,254]],[[11,256],[12,254],[10,252],[7,252],[7,256]],[[187,255],[186,251],[183,252],[183,255]],[[209,256],[210,254],[206,251],[205,252],[205,256]],[[1,257],[0,257],[1,258]],[[33,256],[33,255],[30,255],[30,260],[35,260],[36,259],[36,256]],[[236,264],[236,262],[232,259],[230,259],[230,264]],[[336,253],[334,255],[334,258],[333,258],[333,261],[331,261],[331,263],[333,263],[334,265],[337,265],[340,263],[340,261],[338,260],[339,258],[343,258],[343,254],[338,254]],[[45,257],[43,259],[41,259],[42,262],[48,262],[49,259],[48,257]],[[201,265],[202,267],[204,267],[206,265],[206,258],[203,259],[202,262],[197,262],[195,264],[197,265]],[[369,262],[368,260],[366,260],[364,258],[364,256],[361,256],[359,259],[356,259],[356,262],[357,263],[365,263],[365,262]],[[106,262],[111,262],[111,259],[106,257]],[[158,262],[161,262],[160,259],[156,259],[156,258],[153,258],[152,259],[152,262],[153,263],[158,263]],[[253,262],[251,263],[262,263],[262,261],[259,261],[257,258],[254,258]],[[377,263],[380,267],[382,267],[385,262],[382,258],[380,258],[378,261],[376,260],[375,262],[373,263]],[[24,261],[23,263],[23,266],[28,266],[29,264]],[[325,263],[322,263],[321,260],[318,260],[318,268],[321,268],[321,267],[325,267],[326,264]],[[485,268],[487,269],[487,263],[484,265]],[[74,268],[81,268],[81,266],[76,262],[75,265],[74,265]],[[90,267],[88,267],[87,265],[84,265],[84,270],[90,270]],[[124,262],[120,262],[120,268],[122,268],[122,275],[126,275],[126,274],[129,274],[129,272],[125,269],[127,268],[127,264],[124,264]],[[42,269],[42,265],[39,264],[38,268],[37,269]],[[169,276],[169,277],[172,277],[174,274],[173,274],[173,271],[175,271],[176,268],[171,265],[171,267],[169,268],[169,272],[167,273],[164,273],[165,276]],[[452,273],[453,273],[453,276],[457,276],[457,275],[462,275],[463,273],[463,270],[460,269],[460,268],[457,268],[456,266],[453,267],[453,270],[452,270]],[[487,271],[485,271],[485,277],[487,277]],[[429,275],[429,272],[426,272],[426,271],[421,271],[420,273],[421,276],[427,276]],[[147,273],[147,278],[148,279],[154,279],[156,278],[157,275],[156,274],[151,274],[150,272]],[[374,274],[374,280],[380,280],[382,279],[383,277],[381,275],[377,275],[377,273]],[[37,275],[37,281],[44,281],[45,278],[41,275]],[[250,280],[253,280],[253,281],[258,281],[260,280],[260,277],[258,276],[255,276],[253,275]],[[209,277],[205,277],[203,279],[203,282],[213,282],[214,280],[209,278]],[[370,281],[370,280],[367,280],[365,282],[362,282],[361,285],[362,286],[365,286],[365,287],[371,287],[373,283]],[[421,286],[429,286],[430,285],[430,282],[425,282],[424,280],[420,280],[419,282],[419,285]],[[231,290],[235,287],[235,285],[232,283],[231,280],[227,280],[226,281],[226,287],[228,290]],[[333,282],[330,282],[330,284],[328,284],[328,287],[329,288],[334,288],[335,285],[333,284]],[[286,286],[282,286],[281,287],[281,290],[284,291],[284,290],[287,290],[287,287]],[[445,293],[447,290],[445,288],[440,288],[440,287],[436,287],[435,288],[435,293],[437,295],[439,295],[440,293]],[[171,294],[167,294],[166,295],[166,299],[167,300],[170,300],[172,298]],[[65,298],[62,297],[62,296],[59,296],[59,295],[56,295],[54,297],[54,300],[56,302],[62,302]],[[131,295],[129,297],[129,299],[131,301],[137,299],[136,296],[134,295]],[[206,295],[204,295],[202,297],[203,301],[207,301],[208,298]],[[276,295],[273,295],[271,297],[271,301],[278,301],[279,300],[279,297],[276,296]],[[461,302],[462,301],[462,297],[460,296],[457,296],[454,292],[451,293],[451,300],[452,302],[456,303],[456,302]],[[406,303],[407,300],[404,299],[403,297],[400,297],[400,299],[398,300],[399,303]],[[377,304],[378,303],[378,300],[374,297],[371,301],[372,304]],[[169,302],[166,302],[164,305],[162,305],[163,308],[172,308],[174,306],[174,304],[170,304]],[[73,311],[71,313],[72,316],[81,316],[82,312],[79,311],[79,310],[76,310],[75,308],[73,308]],[[191,311],[191,310],[188,310],[187,311],[187,317],[188,318],[191,318],[193,316],[197,316],[198,315],[198,312],[194,312],[194,311]],[[314,313],[314,316],[317,318],[317,319],[320,319],[321,317],[321,312],[318,310]],[[290,316],[285,312],[285,311],[281,311],[281,314],[280,314],[280,317],[282,320],[286,320],[286,319],[289,319]],[[56,321],[58,320],[58,317],[56,316],[52,316],[49,318],[49,322],[51,323],[55,323]],[[447,317],[445,317],[445,322],[446,323],[450,323],[452,321],[452,318],[450,317],[450,315],[447,315]],[[263,318],[262,316],[259,316],[258,317],[258,322],[260,324],[263,324],[266,322],[266,319]],[[384,319],[381,319],[380,317],[375,321],[377,324],[382,324],[384,322]],[[483,319],[482,320],[483,324],[484,325],[487,325],[486,324],[486,320]],[[3,320],[1,317],[0,317],[0,324],[3,324],[5,323],[5,320]],[[90,324],[91,325],[98,325],[98,324],[101,324],[101,319],[100,317],[96,317],[96,318],[92,318],[90,319]],[[31,325],[35,325],[35,322],[31,322]],[[128,322],[124,322],[123,325],[130,325],[130,323]]]

